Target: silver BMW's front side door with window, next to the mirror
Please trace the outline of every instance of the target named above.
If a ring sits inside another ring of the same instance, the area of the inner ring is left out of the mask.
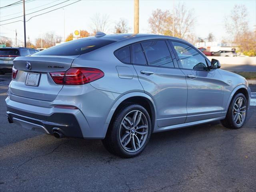
[[[223,116],[226,83],[218,69],[208,70],[207,59],[189,44],[172,41],[172,45],[188,84],[186,122]]]

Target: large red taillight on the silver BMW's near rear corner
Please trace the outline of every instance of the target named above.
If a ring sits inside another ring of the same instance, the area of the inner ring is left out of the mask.
[[[51,72],[52,79],[61,85],[83,85],[104,76],[104,72],[95,68],[70,68],[66,72]]]

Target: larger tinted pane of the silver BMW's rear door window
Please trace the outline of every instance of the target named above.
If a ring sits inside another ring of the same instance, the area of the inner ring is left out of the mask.
[[[142,42],[142,47],[151,66],[174,67],[165,41]]]

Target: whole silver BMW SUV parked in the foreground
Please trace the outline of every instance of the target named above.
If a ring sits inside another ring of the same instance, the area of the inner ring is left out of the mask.
[[[246,121],[250,88],[192,44],[170,36],[113,34],[14,59],[10,123],[56,138],[101,139],[134,157],[155,132]]]

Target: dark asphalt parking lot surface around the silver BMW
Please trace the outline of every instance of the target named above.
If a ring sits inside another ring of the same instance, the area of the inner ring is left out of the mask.
[[[1,192],[256,191],[256,106],[239,130],[212,122],[157,133],[140,156],[123,159],[99,140],[56,139],[9,124],[9,82],[0,76]]]

